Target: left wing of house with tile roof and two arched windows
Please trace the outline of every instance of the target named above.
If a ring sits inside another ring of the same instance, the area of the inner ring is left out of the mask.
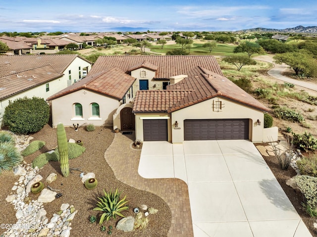
[[[111,126],[117,108],[132,99],[134,81],[135,78],[113,67],[99,74],[89,74],[80,82],[52,95],[48,100],[52,101],[53,127],[58,123],[65,126],[77,123]]]

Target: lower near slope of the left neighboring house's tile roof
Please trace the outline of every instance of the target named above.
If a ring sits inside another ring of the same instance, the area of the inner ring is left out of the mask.
[[[0,99],[50,82],[62,75],[62,73],[56,72],[51,65],[39,66],[26,71],[11,72],[0,77]]]

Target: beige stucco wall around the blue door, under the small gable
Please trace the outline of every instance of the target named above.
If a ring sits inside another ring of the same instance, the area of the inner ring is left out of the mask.
[[[146,71],[146,77],[140,77],[140,72]],[[149,90],[162,90],[163,89],[163,81],[153,79],[155,77],[155,71],[139,68],[134,71],[131,71],[131,76],[136,78],[136,81],[133,84],[133,94],[140,90],[139,80],[149,80]],[[169,80],[165,80],[164,82],[169,82]]]

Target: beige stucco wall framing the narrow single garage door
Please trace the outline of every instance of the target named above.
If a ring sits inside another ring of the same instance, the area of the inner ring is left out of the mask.
[[[170,114],[168,113],[137,113],[135,116],[135,139],[136,140],[141,140],[143,142],[143,119],[141,117],[145,118],[152,118],[152,119],[158,119],[162,117],[169,117],[167,119],[167,131],[168,131],[168,142],[172,141],[171,137],[171,119],[170,119]]]

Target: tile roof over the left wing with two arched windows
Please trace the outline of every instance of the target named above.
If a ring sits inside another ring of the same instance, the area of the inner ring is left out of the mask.
[[[74,83],[55,95],[50,96],[47,98],[47,100],[53,100],[82,89],[87,89],[101,93],[103,95],[109,95],[117,99],[122,99],[134,81],[134,77],[127,75],[117,67],[113,67],[107,71],[100,72],[95,75],[90,74],[90,76],[86,76],[84,79]]]

